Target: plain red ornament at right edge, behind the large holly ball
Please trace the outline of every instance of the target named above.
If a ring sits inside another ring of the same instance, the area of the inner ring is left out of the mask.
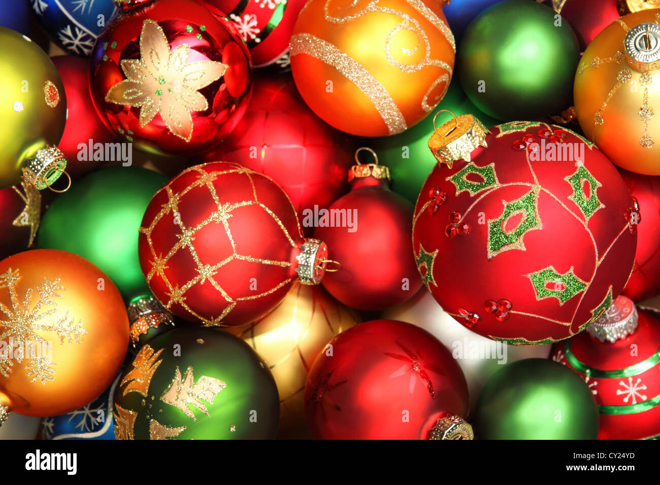
[[[660,177],[619,172],[639,206],[635,265],[621,294],[643,302],[660,293]]]

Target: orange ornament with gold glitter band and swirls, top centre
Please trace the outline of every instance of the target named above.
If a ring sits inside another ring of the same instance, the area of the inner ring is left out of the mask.
[[[451,81],[455,42],[437,0],[311,0],[290,45],[305,102],[333,127],[366,137],[424,118]]]

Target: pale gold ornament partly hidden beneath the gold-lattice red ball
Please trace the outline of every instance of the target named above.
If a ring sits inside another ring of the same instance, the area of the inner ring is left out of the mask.
[[[266,361],[280,396],[279,437],[307,436],[304,390],[307,373],[335,335],[360,321],[320,286],[296,283],[271,313],[243,328],[225,329],[250,344]]]

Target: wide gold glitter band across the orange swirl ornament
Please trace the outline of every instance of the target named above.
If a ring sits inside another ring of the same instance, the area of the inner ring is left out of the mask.
[[[406,120],[385,86],[374,78],[364,66],[336,46],[312,34],[295,34],[291,38],[290,55],[307,54],[334,67],[362,91],[374,104],[389,135],[396,135],[407,129]]]

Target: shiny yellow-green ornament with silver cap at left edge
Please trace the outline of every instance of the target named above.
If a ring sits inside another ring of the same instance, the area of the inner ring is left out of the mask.
[[[57,143],[67,119],[67,100],[55,65],[37,44],[0,27],[0,189],[23,177],[38,189],[66,168]]]

